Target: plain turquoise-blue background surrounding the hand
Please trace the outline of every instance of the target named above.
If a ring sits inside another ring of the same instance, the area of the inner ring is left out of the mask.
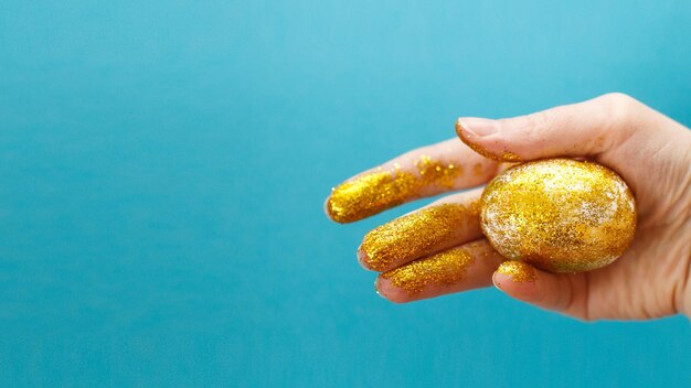
[[[2,1],[1,386],[688,386],[681,316],[378,298],[332,185],[463,115],[691,123],[689,1]]]

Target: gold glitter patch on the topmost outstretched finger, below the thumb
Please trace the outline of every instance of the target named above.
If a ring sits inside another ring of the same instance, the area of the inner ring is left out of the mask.
[[[393,163],[391,170],[378,169],[334,187],[327,201],[329,217],[339,223],[359,220],[417,198],[430,187],[437,192],[450,190],[463,174],[460,165],[442,163],[427,155],[416,160],[410,171]]]

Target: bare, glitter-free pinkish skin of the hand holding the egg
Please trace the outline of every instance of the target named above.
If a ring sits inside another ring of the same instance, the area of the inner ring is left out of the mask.
[[[477,174],[459,177],[450,190],[486,183],[506,166],[501,161],[513,161],[517,157],[523,161],[586,158],[619,173],[634,191],[638,205],[634,242],[607,267],[575,274],[529,268],[534,277],[531,281],[520,281],[510,273],[496,271],[504,259],[486,239],[477,239],[481,236],[479,230],[469,230],[464,235],[474,236],[474,241],[442,244],[444,247],[467,245],[471,251],[478,250],[474,267],[457,283],[429,284],[422,292],[411,294],[380,276],[376,281],[380,294],[405,303],[493,283],[514,299],[583,321],[691,316],[691,131],[688,128],[623,94],[509,119],[459,118],[456,127],[467,146],[449,140],[424,148],[425,154],[453,160],[466,171],[481,164]],[[419,150],[403,158],[416,153]],[[481,188],[477,188],[438,202],[469,204],[480,193]],[[410,198],[413,200],[416,198]],[[358,256],[361,265],[369,268],[366,252],[360,249]],[[422,258],[413,260],[417,259]],[[393,267],[406,265],[407,261],[397,261]]]

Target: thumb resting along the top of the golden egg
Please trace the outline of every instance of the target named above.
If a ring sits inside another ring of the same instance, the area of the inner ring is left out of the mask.
[[[651,111],[628,96],[609,94],[510,119],[459,118],[456,132],[495,160],[596,155],[650,128]]]

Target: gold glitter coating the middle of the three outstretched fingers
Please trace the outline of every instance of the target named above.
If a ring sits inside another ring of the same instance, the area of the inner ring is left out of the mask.
[[[383,271],[394,261],[407,262],[459,244],[459,238],[477,229],[479,223],[479,202],[425,207],[364,236],[362,260],[369,268]]]

